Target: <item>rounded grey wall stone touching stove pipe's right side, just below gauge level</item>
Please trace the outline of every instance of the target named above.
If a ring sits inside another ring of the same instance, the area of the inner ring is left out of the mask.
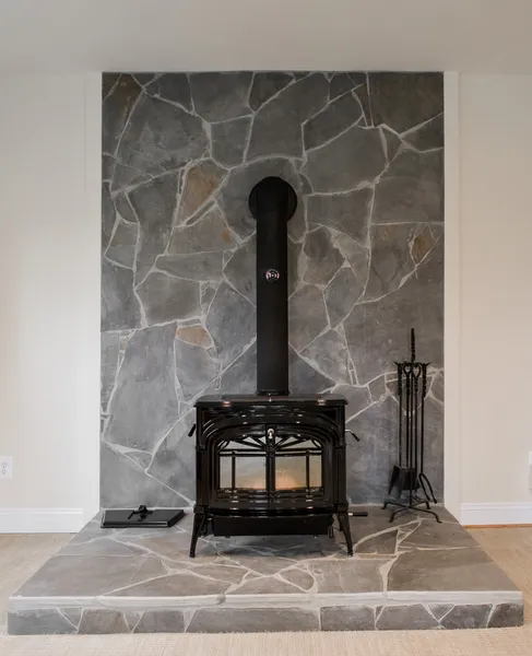
[[[288,340],[300,351],[327,328],[323,294],[314,284],[305,284],[295,292],[288,305]]]

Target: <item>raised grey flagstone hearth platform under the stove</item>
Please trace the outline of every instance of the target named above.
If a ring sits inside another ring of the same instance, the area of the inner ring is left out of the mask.
[[[357,508],[359,509],[359,508]],[[473,629],[523,622],[522,594],[454,518],[367,507],[342,534],[200,539],[99,518],[9,601],[11,634]]]

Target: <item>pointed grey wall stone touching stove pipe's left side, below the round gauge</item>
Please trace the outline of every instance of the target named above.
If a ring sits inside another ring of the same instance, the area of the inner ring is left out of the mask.
[[[255,307],[227,283],[222,282],[209,308],[205,326],[222,366],[226,366],[255,337]]]

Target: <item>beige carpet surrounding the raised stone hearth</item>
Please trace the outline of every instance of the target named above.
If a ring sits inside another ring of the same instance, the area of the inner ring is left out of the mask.
[[[0,636],[0,656],[532,656],[532,528],[473,530],[525,595],[527,625],[480,631]],[[0,536],[0,609],[68,536]]]

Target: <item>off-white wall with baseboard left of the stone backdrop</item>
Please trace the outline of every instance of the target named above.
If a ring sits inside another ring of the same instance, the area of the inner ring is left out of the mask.
[[[101,77],[2,77],[0,531],[98,508]]]

